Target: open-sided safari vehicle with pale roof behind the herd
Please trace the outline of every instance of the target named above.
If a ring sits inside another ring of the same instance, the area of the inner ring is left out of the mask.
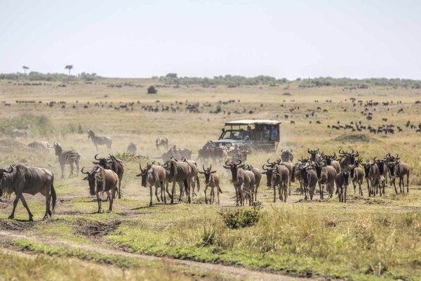
[[[225,123],[215,145],[243,146],[255,150],[274,151],[279,143],[279,124],[276,120],[236,120]]]

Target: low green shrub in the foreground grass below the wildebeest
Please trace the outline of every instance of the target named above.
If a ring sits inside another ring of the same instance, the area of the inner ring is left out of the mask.
[[[222,220],[227,228],[238,229],[254,226],[258,223],[260,218],[260,209],[262,208],[261,202],[255,202],[253,208],[247,209],[234,209],[231,211],[220,212]]]

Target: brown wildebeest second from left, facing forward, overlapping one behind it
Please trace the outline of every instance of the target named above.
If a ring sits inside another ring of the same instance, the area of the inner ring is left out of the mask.
[[[83,167],[84,168],[84,167]],[[102,214],[101,207],[101,198],[100,194],[102,192],[107,192],[109,197],[109,211],[112,211],[112,203],[116,197],[117,186],[119,185],[119,177],[114,171],[109,169],[104,169],[102,166],[95,166],[91,171],[83,171],[83,174],[86,174],[86,177],[83,178],[83,181],[88,181],[89,183],[89,192],[91,195],[96,195],[98,202],[98,214]],[[111,194],[110,194],[111,191]]]

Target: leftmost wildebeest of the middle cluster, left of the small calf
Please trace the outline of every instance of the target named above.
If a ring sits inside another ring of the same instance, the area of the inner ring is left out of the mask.
[[[155,165],[152,162],[152,165],[147,164],[146,169],[142,169],[142,165],[139,163],[140,174],[136,176],[140,176],[141,185],[145,188],[149,187],[150,191],[150,201],[149,207],[152,207],[152,187],[155,187],[155,196],[156,201],[164,202],[166,204],[166,194],[171,198],[171,194],[168,192],[168,178],[166,169],[163,166]],[[158,189],[161,192],[161,200],[158,197]]]

